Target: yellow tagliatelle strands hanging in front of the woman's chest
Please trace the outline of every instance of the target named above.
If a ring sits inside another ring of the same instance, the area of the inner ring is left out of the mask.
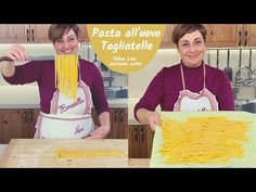
[[[77,98],[78,55],[55,55],[55,86],[66,98]]]

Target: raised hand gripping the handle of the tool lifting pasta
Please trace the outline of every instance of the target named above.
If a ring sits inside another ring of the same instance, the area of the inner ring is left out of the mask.
[[[7,56],[13,61],[27,61],[28,53],[21,44],[13,44],[7,53]]]

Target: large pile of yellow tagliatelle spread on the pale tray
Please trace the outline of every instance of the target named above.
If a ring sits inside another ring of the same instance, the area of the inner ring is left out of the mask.
[[[161,154],[166,164],[226,163],[243,157],[248,124],[222,116],[190,117],[185,121],[165,118],[161,123]]]

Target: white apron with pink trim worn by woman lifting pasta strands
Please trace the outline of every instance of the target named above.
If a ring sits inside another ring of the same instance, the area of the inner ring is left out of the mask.
[[[74,102],[56,90],[51,101],[50,114],[40,112],[36,125],[37,139],[81,139],[94,130],[91,117],[91,91],[79,80],[77,100]]]

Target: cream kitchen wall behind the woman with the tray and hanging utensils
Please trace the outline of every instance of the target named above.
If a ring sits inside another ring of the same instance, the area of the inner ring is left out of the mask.
[[[222,48],[223,49],[223,48]],[[216,67],[216,50],[209,50],[205,54],[205,62],[212,66]],[[235,73],[239,68],[239,50],[231,50],[230,51],[230,67],[233,68],[233,82]],[[242,65],[248,66],[249,60],[249,51],[248,48],[242,51]],[[153,60],[142,69],[139,72],[129,74],[128,78],[128,86],[129,86],[129,98],[130,99],[138,99],[141,98],[146,90],[150,81],[153,77],[159,72],[164,66],[170,66],[180,62],[179,54],[176,49],[159,49]],[[227,66],[227,50],[219,51],[219,68],[222,69]],[[252,68],[256,68],[256,48],[252,52]],[[143,78],[141,78],[143,77]],[[256,89],[255,87],[240,87],[240,91],[238,93],[238,99],[247,99],[253,100],[255,99]]]

